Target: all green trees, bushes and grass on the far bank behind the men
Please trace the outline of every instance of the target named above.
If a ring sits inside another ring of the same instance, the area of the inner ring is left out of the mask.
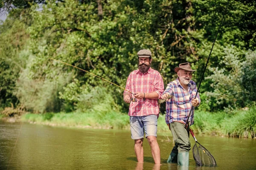
[[[197,69],[198,83],[226,5],[223,0],[3,0],[1,13],[8,17],[0,23],[0,117],[125,128],[129,105],[121,88],[49,58],[125,87],[137,69],[137,51],[148,48],[151,67],[165,85],[176,78],[173,68],[181,62]],[[254,0],[236,0],[227,8],[200,87],[196,133],[255,136],[255,8]],[[164,113],[162,104],[159,131],[167,127]]]

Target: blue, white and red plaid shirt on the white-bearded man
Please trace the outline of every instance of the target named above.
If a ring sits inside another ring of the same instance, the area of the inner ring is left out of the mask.
[[[195,94],[197,92],[196,84],[194,81],[190,81],[188,84],[188,89],[184,89],[179,82],[179,79],[170,82],[166,90],[163,92],[169,93],[172,95],[171,99],[166,101],[166,124],[172,122],[183,122],[186,123],[188,118],[190,109],[192,107],[192,99],[195,98]],[[199,93],[197,94],[198,102],[200,104],[200,96]],[[190,115],[190,125],[194,124],[194,110],[192,110]]]

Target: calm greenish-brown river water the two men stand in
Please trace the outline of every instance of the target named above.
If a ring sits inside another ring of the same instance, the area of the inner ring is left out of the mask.
[[[21,129],[21,130],[20,130]],[[19,134],[20,132],[20,134]],[[144,140],[144,163],[137,164],[129,130],[51,127],[0,122],[0,170],[181,170],[167,164],[172,137],[158,133],[161,166],[154,165]],[[189,153],[189,170],[256,170],[256,140],[196,136],[212,153],[217,167],[195,166]],[[171,139],[171,140],[168,140]],[[190,139],[191,145],[195,144]],[[16,146],[15,146],[16,144]]]

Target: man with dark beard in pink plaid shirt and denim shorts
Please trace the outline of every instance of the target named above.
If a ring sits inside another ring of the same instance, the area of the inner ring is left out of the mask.
[[[143,49],[138,53],[139,69],[129,75],[125,89],[124,101],[130,103],[129,113],[131,125],[131,139],[134,139],[134,150],[137,161],[143,162],[144,133],[151,147],[155,164],[160,164],[160,148],[157,143],[157,119],[163,90],[163,79],[160,73],[150,67],[151,51]],[[136,102],[131,102],[136,98]]]

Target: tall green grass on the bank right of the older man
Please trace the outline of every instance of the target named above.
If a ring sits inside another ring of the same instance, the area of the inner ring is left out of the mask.
[[[256,137],[256,105],[247,111],[233,113],[195,112],[195,125],[191,126],[195,133],[231,136],[239,138]]]

